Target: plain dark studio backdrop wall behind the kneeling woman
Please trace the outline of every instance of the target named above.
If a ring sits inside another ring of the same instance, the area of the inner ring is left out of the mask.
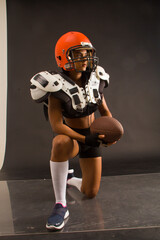
[[[1,179],[48,178],[53,133],[30,78],[56,70],[54,46],[68,31],[87,35],[110,74],[105,98],[125,134],[103,148],[103,175],[160,171],[159,1],[7,0],[7,148]],[[78,158],[71,167],[80,175]]]

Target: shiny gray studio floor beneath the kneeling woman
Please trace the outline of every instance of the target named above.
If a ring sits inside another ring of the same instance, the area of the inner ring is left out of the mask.
[[[67,202],[64,229],[51,233],[51,180],[0,181],[0,239],[160,239],[160,173],[102,177],[96,198],[70,187]]]

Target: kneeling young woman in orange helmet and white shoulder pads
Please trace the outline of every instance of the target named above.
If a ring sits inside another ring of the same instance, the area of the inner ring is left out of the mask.
[[[88,198],[98,193],[102,170],[99,145],[104,136],[90,134],[90,126],[97,109],[101,116],[112,117],[103,96],[109,75],[97,66],[98,58],[90,40],[79,32],[64,34],[56,44],[55,58],[62,72],[41,72],[31,79],[32,98],[37,102],[48,100],[49,121],[57,133],[50,158],[56,201],[46,224],[50,230],[62,229],[69,216],[67,183]],[[77,154],[82,179],[68,171],[69,159]]]

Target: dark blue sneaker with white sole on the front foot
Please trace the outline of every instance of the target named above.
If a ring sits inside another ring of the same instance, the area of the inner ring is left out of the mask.
[[[53,212],[48,218],[46,228],[48,230],[61,230],[64,227],[64,220],[69,216],[67,207],[63,207],[61,203],[54,206]]]

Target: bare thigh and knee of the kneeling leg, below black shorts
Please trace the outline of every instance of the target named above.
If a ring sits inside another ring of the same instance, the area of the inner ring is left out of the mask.
[[[99,191],[102,173],[102,157],[80,158],[82,171],[81,191],[88,197],[95,197]]]

